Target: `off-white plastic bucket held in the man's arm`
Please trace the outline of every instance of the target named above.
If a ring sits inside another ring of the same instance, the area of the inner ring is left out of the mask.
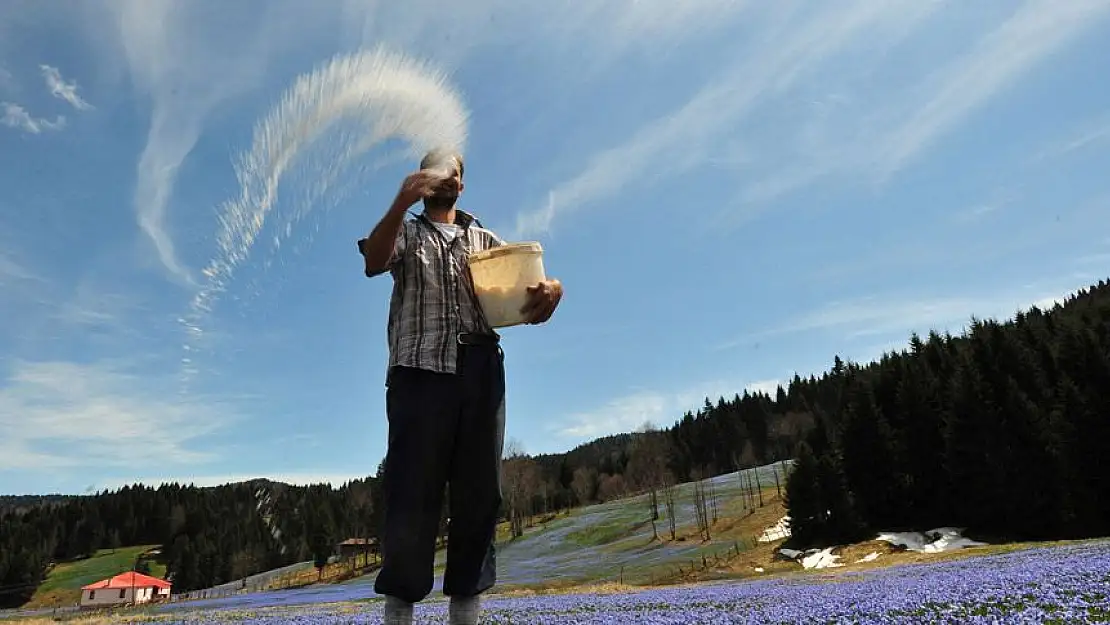
[[[547,279],[539,243],[508,243],[475,252],[470,256],[470,266],[474,293],[490,326],[525,323],[521,309],[528,301],[527,289]]]

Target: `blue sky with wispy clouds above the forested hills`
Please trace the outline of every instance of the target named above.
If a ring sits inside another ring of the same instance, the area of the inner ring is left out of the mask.
[[[305,145],[194,305],[255,129],[361,49],[446,77],[462,205],[566,285],[504,331],[532,453],[1107,276],[1110,1],[584,7],[0,6],[0,492],[373,473],[391,283],[354,241],[403,141],[307,203],[344,127]]]

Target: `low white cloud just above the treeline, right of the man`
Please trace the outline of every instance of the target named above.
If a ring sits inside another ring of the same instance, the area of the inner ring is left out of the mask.
[[[606,402],[597,409],[573,414],[552,424],[548,431],[564,440],[586,441],[597,436],[632,432],[645,422],[666,427],[682,419],[687,411],[697,411],[706,397],[716,404],[719,397],[731,397],[743,393],[761,391],[774,393],[784,382],[759,380],[714,380],[673,392],[638,391]],[[562,442],[562,441],[561,441]]]

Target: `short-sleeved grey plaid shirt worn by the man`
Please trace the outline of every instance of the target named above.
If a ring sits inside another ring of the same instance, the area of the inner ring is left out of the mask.
[[[458,235],[448,242],[425,215],[406,220],[389,266],[372,274],[393,274],[390,369],[455,373],[458,333],[494,333],[474,295],[466,258],[505,242],[458,209],[455,224]]]

